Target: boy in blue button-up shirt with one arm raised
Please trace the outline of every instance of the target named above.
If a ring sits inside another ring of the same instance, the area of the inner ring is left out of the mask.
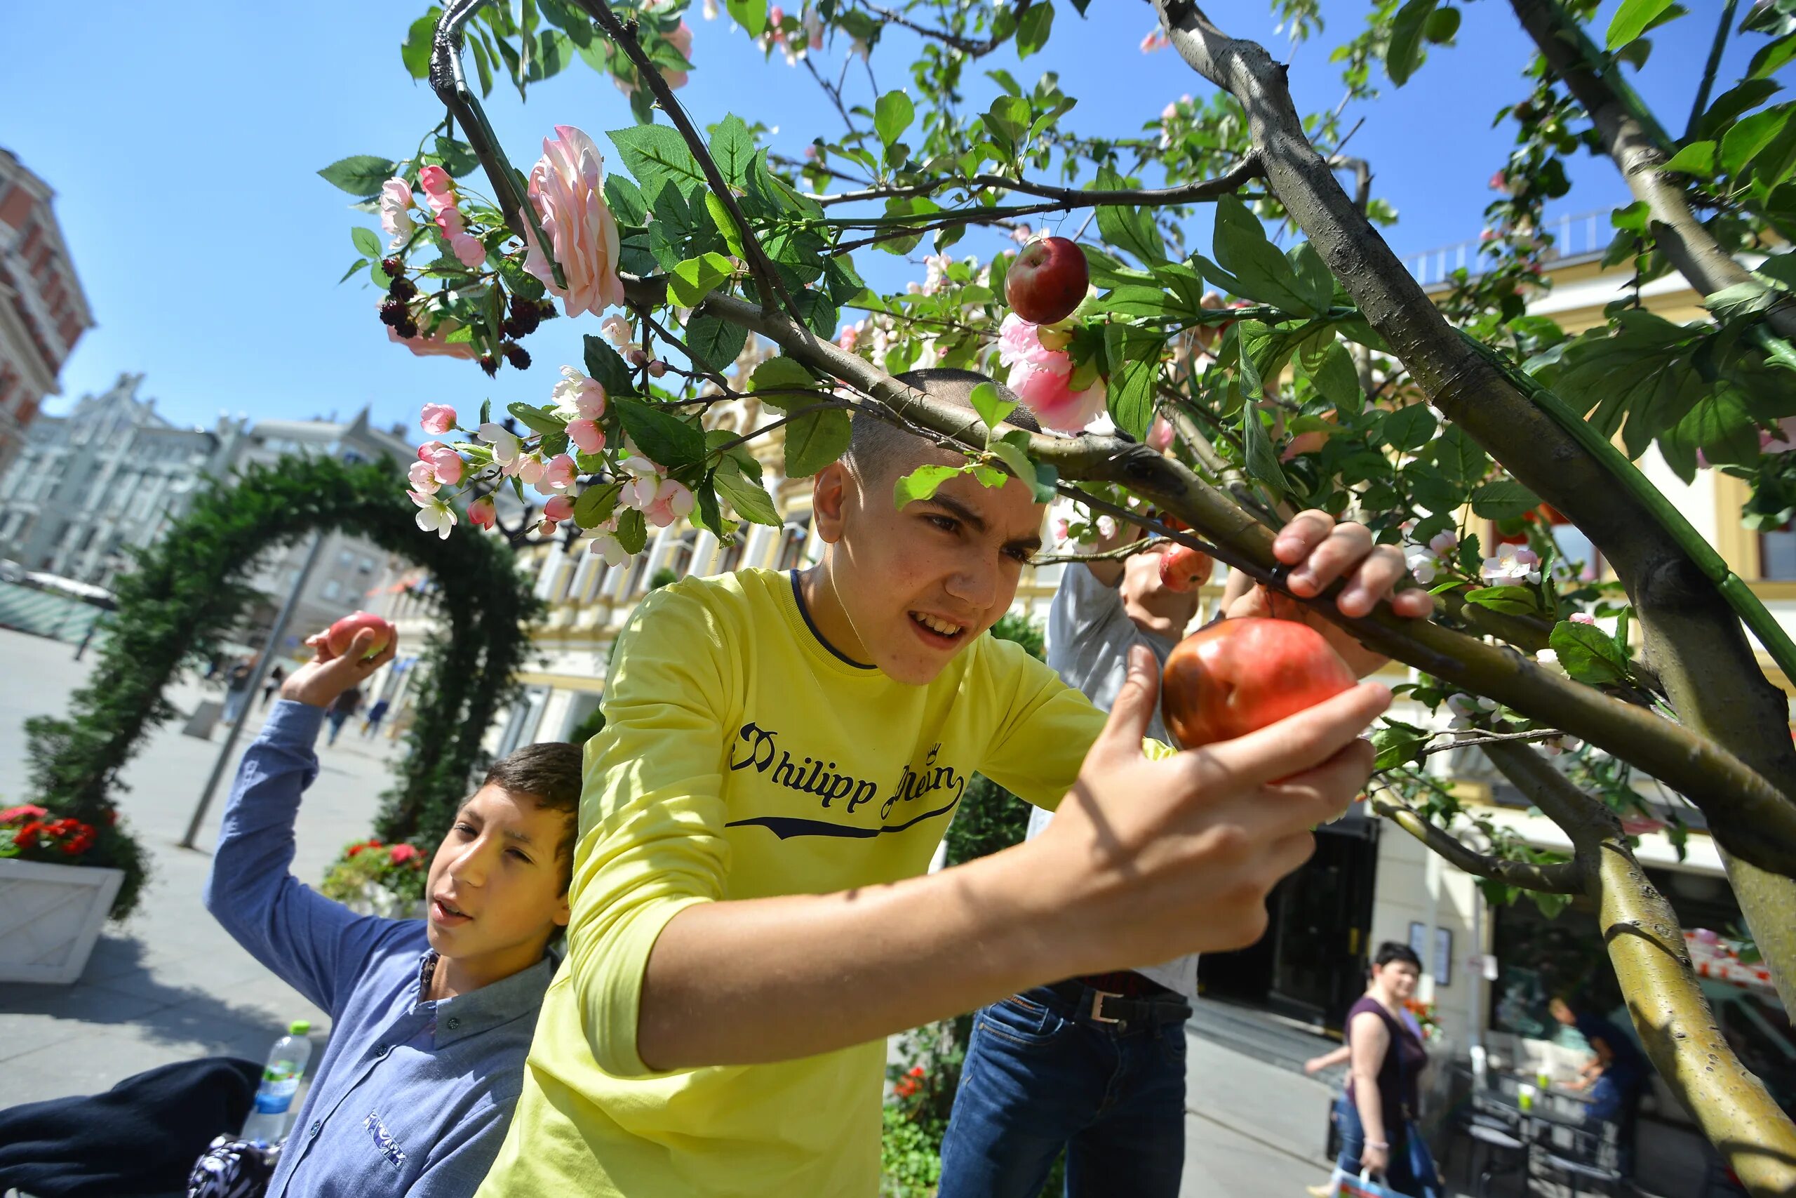
[[[487,1175],[568,923],[580,749],[496,763],[429,864],[426,920],[357,916],[291,876],[293,821],[318,776],[325,711],[392,661],[374,632],[341,657],[321,636],[244,751],[207,880],[207,909],[250,954],[330,1013],[269,1198],[467,1198]]]

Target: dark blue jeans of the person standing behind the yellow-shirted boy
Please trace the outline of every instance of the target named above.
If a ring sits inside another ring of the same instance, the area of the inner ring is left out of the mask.
[[[1185,1167],[1182,1022],[1099,1024],[1088,1000],[1076,1008],[1051,990],[1011,995],[973,1017],[938,1198],[1036,1198],[1061,1148],[1069,1198],[1176,1198]]]

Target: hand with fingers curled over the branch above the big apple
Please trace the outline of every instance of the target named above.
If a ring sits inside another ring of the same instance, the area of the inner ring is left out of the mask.
[[[1419,587],[1395,589],[1408,577],[1403,553],[1394,544],[1374,544],[1372,532],[1365,524],[1336,523],[1333,515],[1315,508],[1299,512],[1279,532],[1272,551],[1291,568],[1288,586],[1291,595],[1300,598],[1322,595],[1336,580],[1345,580],[1334,600],[1343,616],[1369,616],[1379,602],[1388,602],[1394,612],[1412,620],[1422,620],[1435,609],[1435,598],[1428,591]],[[1383,654],[1363,647],[1340,625],[1257,584],[1243,593],[1236,593],[1236,587],[1230,586],[1223,611],[1230,620],[1270,616],[1307,623],[1329,639],[1334,652],[1360,677],[1388,661]]]

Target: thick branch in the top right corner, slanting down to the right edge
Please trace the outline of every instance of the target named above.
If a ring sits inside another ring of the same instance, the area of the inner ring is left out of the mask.
[[[1735,284],[1751,282],[1751,273],[1715,242],[1690,210],[1690,198],[1679,183],[1663,174],[1668,162],[1661,138],[1640,120],[1622,95],[1586,61],[1582,29],[1568,22],[1555,0],[1510,0],[1521,27],[1534,38],[1546,65],[1566,90],[1584,106],[1602,149],[1622,171],[1634,199],[1647,201],[1652,239],[1672,268],[1701,295],[1715,295]],[[1780,338],[1796,336],[1796,304],[1780,300],[1765,311],[1765,322]]]

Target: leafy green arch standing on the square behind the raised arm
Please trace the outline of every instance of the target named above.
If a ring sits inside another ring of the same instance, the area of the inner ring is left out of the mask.
[[[515,697],[528,623],[542,605],[497,537],[420,535],[402,481],[392,462],[282,458],[214,483],[120,578],[111,636],[68,717],[25,722],[36,799],[101,828],[84,860],[126,871],[115,916],[131,911],[145,876],[142,848],[117,824],[126,763],[153,727],[178,715],[163,691],[183,663],[217,652],[253,602],[241,578],[255,559],[313,530],[366,537],[440,584],[447,634],[420,647],[417,720],[375,830],[388,841],[427,841],[449,824],[480,765],[481,736]]]

